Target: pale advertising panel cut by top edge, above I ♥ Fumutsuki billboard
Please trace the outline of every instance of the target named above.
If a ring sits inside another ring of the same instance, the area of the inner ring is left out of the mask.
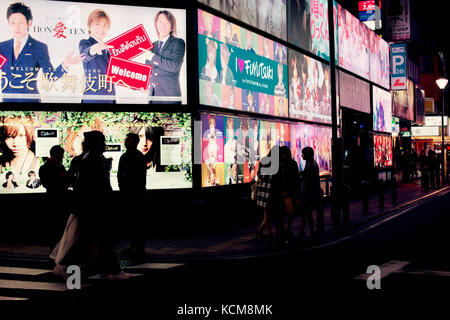
[[[198,0],[220,12],[286,40],[286,0]]]

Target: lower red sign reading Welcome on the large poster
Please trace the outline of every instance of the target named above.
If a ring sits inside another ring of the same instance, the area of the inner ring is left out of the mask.
[[[147,90],[150,85],[152,66],[111,57],[106,75],[112,83],[135,90]]]

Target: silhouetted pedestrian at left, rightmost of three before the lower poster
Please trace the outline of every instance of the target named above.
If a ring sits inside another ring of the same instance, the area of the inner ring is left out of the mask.
[[[137,134],[127,134],[125,139],[127,151],[120,157],[117,177],[127,210],[127,219],[131,222],[129,225],[131,245],[123,253],[142,261],[145,256],[145,223],[142,219],[145,207],[140,204],[146,197],[147,161],[142,152],[137,150],[138,144]],[[135,199],[138,200],[135,201]],[[144,204],[147,205],[146,201]]]

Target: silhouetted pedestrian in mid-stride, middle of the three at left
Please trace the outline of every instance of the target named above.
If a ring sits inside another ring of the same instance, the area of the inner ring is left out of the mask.
[[[110,162],[103,156],[105,136],[100,131],[84,133],[87,153],[83,156],[77,181],[77,210],[80,236],[54,273],[64,274],[65,266],[81,264],[89,252],[96,251],[97,271],[109,279],[127,279],[112,249],[112,188],[109,180]],[[92,249],[96,250],[92,250]]]

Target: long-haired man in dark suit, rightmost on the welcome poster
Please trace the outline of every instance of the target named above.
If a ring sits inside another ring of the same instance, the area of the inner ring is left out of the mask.
[[[150,78],[150,98],[170,97],[153,100],[150,103],[181,104],[180,71],[184,61],[186,44],[176,37],[177,23],[173,14],[167,10],[155,16],[158,41],[152,50],[146,52],[145,64],[153,67]]]

